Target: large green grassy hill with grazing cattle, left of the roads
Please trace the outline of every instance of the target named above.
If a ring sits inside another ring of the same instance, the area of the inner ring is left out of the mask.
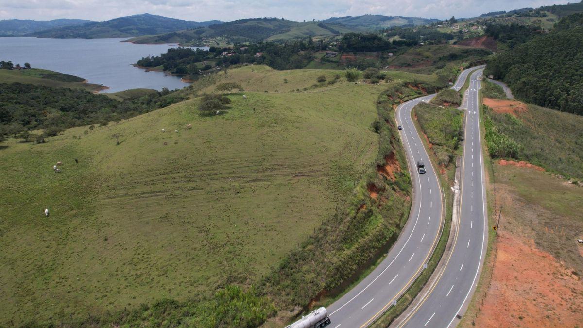
[[[245,92],[212,117],[187,100],[46,144],[9,139],[0,149],[2,323],[87,317],[258,281],[374,162],[369,127],[381,90]]]

